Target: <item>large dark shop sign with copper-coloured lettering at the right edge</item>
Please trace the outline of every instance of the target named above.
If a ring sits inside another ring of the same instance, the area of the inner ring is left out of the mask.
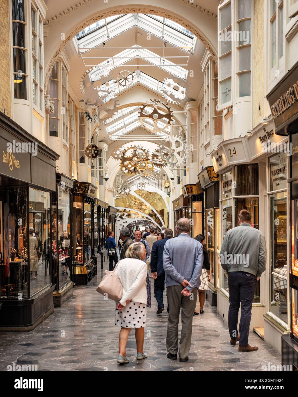
[[[298,62],[266,96],[275,132],[287,135],[287,125],[298,118]]]

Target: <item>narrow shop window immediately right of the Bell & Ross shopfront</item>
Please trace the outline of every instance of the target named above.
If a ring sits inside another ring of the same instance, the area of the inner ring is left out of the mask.
[[[59,288],[71,275],[70,258],[70,190],[58,185],[58,258],[61,273]]]

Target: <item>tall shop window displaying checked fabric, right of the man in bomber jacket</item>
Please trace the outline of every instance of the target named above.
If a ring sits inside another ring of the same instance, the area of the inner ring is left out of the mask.
[[[287,323],[286,192],[271,194],[270,208],[270,311]]]

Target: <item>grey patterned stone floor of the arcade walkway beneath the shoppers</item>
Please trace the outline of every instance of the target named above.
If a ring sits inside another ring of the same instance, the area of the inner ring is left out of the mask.
[[[166,358],[167,314],[156,314],[156,302],[147,311],[145,360],[136,360],[134,330],[126,349],[130,363],[119,365],[119,328],[114,325],[114,302],[96,292],[100,280],[74,289],[74,297],[34,331],[0,333],[0,371],[8,365],[37,365],[39,371],[261,371],[270,363],[280,365],[281,357],[257,335],[250,344],[255,353],[238,353],[230,346],[226,323],[216,308],[205,304],[205,314],[194,317],[192,347],[188,362]],[[166,313],[166,312],[164,312]],[[237,344],[238,345],[238,344]]]

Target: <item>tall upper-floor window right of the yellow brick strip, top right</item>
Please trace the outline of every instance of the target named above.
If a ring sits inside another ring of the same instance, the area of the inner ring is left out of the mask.
[[[284,2],[270,0],[270,68],[279,68],[279,60],[284,54]]]

